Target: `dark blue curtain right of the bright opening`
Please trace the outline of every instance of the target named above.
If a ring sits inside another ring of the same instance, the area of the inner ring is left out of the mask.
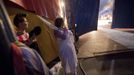
[[[134,28],[134,0],[115,0],[112,28]]]

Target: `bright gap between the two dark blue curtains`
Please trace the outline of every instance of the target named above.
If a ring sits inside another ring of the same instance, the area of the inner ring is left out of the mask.
[[[100,0],[98,29],[111,28],[114,1],[115,0]]]

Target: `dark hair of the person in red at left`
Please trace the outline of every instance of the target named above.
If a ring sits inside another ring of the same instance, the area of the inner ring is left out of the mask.
[[[18,27],[19,23],[23,22],[24,21],[24,18],[26,18],[26,14],[24,13],[19,13],[19,14],[16,14],[15,17],[14,17],[14,20],[13,20],[13,23],[16,27]]]

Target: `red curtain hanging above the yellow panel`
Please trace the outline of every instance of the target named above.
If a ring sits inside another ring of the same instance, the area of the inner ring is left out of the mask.
[[[22,8],[54,20],[59,16],[59,0],[9,0]]]

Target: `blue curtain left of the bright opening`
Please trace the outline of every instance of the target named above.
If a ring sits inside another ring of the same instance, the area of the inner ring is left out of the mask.
[[[97,29],[99,0],[71,0],[70,4],[79,36]]]

